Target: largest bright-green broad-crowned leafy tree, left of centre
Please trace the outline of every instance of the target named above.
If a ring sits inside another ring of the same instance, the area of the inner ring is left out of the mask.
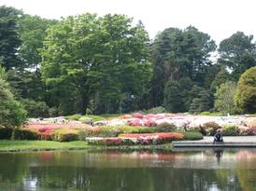
[[[148,34],[122,15],[68,17],[50,28],[44,46],[43,79],[53,89],[77,92],[83,114],[95,95],[105,111],[117,110],[124,93],[140,90],[150,67]]]

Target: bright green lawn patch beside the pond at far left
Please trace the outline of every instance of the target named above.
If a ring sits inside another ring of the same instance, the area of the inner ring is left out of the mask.
[[[61,150],[61,149],[82,149],[87,148],[85,142],[76,141],[60,143],[53,141],[0,141],[0,151],[35,151],[35,150]]]

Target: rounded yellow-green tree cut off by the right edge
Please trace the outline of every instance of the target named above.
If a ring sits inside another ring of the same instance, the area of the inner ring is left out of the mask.
[[[244,114],[256,113],[256,66],[247,70],[239,78],[235,104]]]

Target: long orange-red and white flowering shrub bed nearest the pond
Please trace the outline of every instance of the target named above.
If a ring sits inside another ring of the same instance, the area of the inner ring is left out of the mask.
[[[170,143],[172,141],[183,140],[184,135],[178,132],[166,133],[141,133],[141,134],[121,134],[120,137],[107,138],[86,138],[86,141],[92,145],[135,145],[135,144],[160,144]]]

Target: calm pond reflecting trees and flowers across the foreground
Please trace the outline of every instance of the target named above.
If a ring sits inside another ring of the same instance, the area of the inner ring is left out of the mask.
[[[0,153],[0,190],[254,191],[256,150]]]

